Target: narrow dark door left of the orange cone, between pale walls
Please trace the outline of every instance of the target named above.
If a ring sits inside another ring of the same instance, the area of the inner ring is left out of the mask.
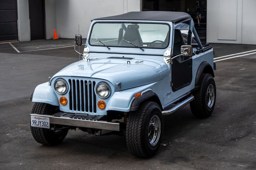
[[[28,0],[31,40],[45,39],[45,2]]]

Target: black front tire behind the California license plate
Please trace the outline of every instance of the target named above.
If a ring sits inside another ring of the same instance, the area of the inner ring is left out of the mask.
[[[57,113],[59,108],[47,103],[35,103],[31,113],[52,115]],[[57,145],[62,142],[68,133],[68,129],[51,131],[47,128],[30,126],[34,139],[43,145]]]

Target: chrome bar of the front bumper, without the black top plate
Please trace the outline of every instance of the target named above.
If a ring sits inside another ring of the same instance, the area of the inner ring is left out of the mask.
[[[50,124],[59,124],[59,125],[67,125],[67,126],[77,126],[77,127],[87,127],[87,128],[95,128],[95,129],[105,129],[105,130],[113,130],[120,131],[119,123],[116,122],[107,122],[107,121],[93,121],[93,120],[83,120],[83,119],[73,119],[70,117],[57,117],[54,115],[42,115],[42,114],[30,114],[31,116],[40,116],[40,117],[48,117],[50,120]]]

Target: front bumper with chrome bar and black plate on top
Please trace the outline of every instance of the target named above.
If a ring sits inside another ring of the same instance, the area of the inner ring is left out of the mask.
[[[105,115],[58,112],[53,115],[30,114],[30,116],[48,117],[50,124],[120,131],[119,123],[102,121]]]

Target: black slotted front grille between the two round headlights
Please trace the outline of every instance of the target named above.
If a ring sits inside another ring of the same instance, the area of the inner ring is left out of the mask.
[[[96,113],[95,81],[69,79],[68,82],[70,110]]]

